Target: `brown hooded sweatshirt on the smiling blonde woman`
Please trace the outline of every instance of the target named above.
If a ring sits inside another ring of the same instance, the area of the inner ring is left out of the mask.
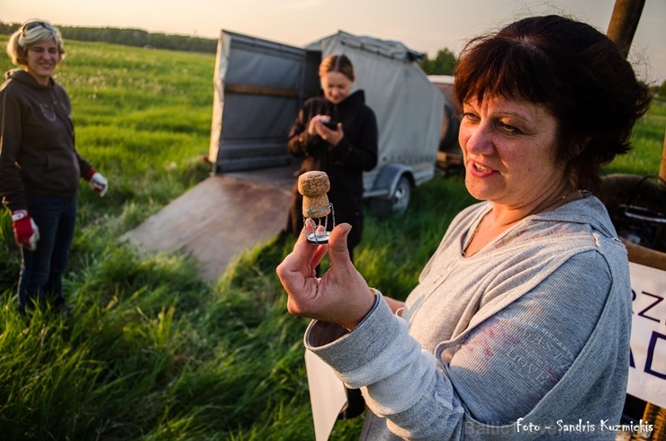
[[[11,211],[26,196],[74,196],[93,167],[78,155],[67,92],[53,78],[40,85],[21,69],[0,86],[0,196]]]

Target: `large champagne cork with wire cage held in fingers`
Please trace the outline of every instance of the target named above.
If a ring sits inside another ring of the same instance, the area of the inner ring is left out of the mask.
[[[308,241],[314,244],[329,242],[329,214],[333,223],[332,227],[335,227],[335,211],[327,194],[329,190],[329,175],[325,172],[306,172],[298,178],[298,191],[303,196],[303,224],[306,231],[310,225],[312,231],[308,233]]]

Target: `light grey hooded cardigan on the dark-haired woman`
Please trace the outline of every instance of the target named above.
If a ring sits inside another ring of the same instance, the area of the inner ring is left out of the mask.
[[[307,329],[306,347],[362,388],[363,439],[614,439],[631,288],[608,212],[586,193],[464,257],[489,210],[455,218],[401,317],[378,294],[352,332]]]

